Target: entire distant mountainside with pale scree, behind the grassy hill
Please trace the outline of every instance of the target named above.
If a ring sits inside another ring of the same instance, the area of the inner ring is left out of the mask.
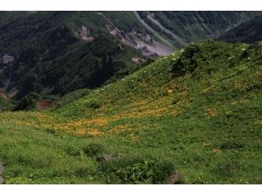
[[[148,57],[173,53],[255,12],[0,12],[0,88],[66,94],[101,86]],[[128,72],[128,71],[127,71]]]

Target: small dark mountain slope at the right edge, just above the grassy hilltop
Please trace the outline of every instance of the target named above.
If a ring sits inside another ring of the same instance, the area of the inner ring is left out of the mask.
[[[262,40],[262,16],[242,23],[235,29],[229,30],[217,40],[226,42],[255,43]]]

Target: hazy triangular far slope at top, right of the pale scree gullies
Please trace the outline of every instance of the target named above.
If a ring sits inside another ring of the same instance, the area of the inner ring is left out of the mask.
[[[256,12],[139,12],[140,17],[176,48],[216,37]]]

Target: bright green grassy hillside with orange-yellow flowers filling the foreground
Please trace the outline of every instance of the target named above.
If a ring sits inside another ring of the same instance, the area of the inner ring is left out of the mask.
[[[261,184],[262,44],[205,42],[45,112],[0,114],[5,184]]]

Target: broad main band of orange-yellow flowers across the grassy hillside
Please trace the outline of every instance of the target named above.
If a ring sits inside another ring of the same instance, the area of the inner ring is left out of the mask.
[[[145,85],[143,87],[151,88],[151,86]],[[152,88],[152,90],[154,89],[155,88]],[[92,113],[88,110],[88,118],[69,120],[68,118],[53,116],[52,113],[15,112],[12,114],[0,113],[0,123],[6,126],[45,129],[71,135],[120,136],[123,135],[123,132],[126,132],[126,136],[124,136],[126,139],[137,142],[139,141],[139,137],[134,135],[134,131],[141,131],[149,127],[149,125],[134,123],[134,119],[155,118],[163,115],[176,116],[181,113],[182,106],[184,107],[186,104],[189,104],[189,102],[184,101],[185,99],[182,99],[176,104],[172,104],[173,94],[181,94],[182,96],[188,94],[188,89],[185,85],[177,86],[175,83],[170,83],[168,86],[163,87],[162,91],[168,91],[169,95],[160,96],[161,98],[157,99],[154,94],[163,92],[151,92],[152,97],[147,100],[137,98],[135,94],[134,96],[128,97],[127,100],[108,99],[108,97],[106,97],[103,100],[104,104],[101,108],[94,112],[92,111]],[[178,93],[175,94],[176,91],[178,91]],[[125,104],[124,108],[121,107],[123,100],[129,102],[129,104]],[[92,114],[91,118],[89,118],[90,114]],[[107,115],[104,116],[104,114]],[[123,119],[124,123],[121,123]]]

